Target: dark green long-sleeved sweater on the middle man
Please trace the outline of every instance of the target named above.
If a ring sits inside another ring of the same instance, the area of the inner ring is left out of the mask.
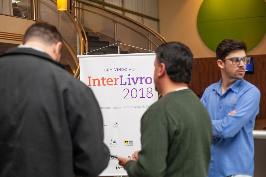
[[[206,177],[212,142],[210,115],[190,89],[159,99],[141,119],[139,159],[126,163],[130,177]]]

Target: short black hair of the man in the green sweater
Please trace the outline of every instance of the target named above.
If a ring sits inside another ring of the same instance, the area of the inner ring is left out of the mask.
[[[193,69],[193,55],[181,42],[169,42],[156,49],[158,64],[164,63],[170,79],[189,84]]]

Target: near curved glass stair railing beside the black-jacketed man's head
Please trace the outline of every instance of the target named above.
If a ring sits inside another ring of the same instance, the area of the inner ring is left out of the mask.
[[[40,21],[56,26],[62,35],[63,61],[60,60],[60,63],[68,64],[73,73],[76,73],[79,69],[77,55],[87,52],[87,37],[83,37],[86,36],[84,28],[69,9],[58,11],[56,1],[40,0],[38,8]]]

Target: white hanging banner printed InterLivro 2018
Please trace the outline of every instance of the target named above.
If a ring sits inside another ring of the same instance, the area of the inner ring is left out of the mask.
[[[89,86],[103,114],[104,142],[111,155],[131,158],[141,149],[140,119],[158,100],[153,74],[155,53],[81,55],[80,80]],[[99,176],[126,176],[110,157]]]

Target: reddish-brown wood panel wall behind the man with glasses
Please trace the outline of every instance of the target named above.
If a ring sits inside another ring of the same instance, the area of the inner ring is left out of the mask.
[[[254,84],[261,93],[257,119],[266,119],[266,55],[248,55],[254,57],[254,74],[246,74],[244,79]],[[221,78],[216,58],[195,58],[192,79],[189,88],[200,98],[204,90]]]

